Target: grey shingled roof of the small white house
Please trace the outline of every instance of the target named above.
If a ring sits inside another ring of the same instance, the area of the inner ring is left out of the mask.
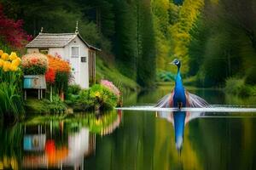
[[[88,48],[101,51],[101,49],[95,48],[85,42],[84,39],[76,33],[39,33],[32,42],[26,45],[26,48],[63,48],[77,36]]]

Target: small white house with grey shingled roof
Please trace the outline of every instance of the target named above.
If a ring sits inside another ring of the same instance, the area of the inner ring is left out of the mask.
[[[74,33],[43,33],[43,28],[32,42],[26,45],[27,53],[58,54],[70,62],[73,83],[89,88],[96,81],[96,51],[79,35],[78,25]]]

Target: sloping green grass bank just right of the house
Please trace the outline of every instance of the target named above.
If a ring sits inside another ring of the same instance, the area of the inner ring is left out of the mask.
[[[131,78],[129,77],[125,77],[113,65],[106,64],[102,59],[97,57],[96,81],[100,82],[101,79],[108,79],[122,90],[137,91],[137,89],[139,88],[137,82],[131,80]]]

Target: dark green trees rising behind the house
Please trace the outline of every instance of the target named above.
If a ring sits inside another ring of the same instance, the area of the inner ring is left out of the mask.
[[[152,87],[155,77],[155,43],[151,1],[1,0],[4,13],[23,20],[24,28],[44,32],[79,33],[90,44],[102,48],[102,56],[126,77]],[[54,24],[53,24],[54,23]]]

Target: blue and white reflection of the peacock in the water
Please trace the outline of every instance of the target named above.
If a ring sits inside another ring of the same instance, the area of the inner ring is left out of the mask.
[[[173,111],[156,112],[156,116],[166,119],[168,122],[172,122],[174,127],[175,144],[178,151],[182,150],[183,146],[183,134],[185,125],[195,118],[204,116],[203,112],[185,112],[185,111]]]

